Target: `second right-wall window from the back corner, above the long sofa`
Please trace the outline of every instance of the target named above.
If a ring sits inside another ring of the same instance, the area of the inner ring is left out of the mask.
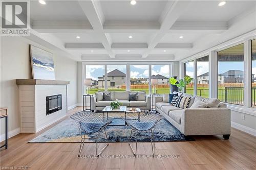
[[[209,98],[209,57],[197,59],[197,95]]]

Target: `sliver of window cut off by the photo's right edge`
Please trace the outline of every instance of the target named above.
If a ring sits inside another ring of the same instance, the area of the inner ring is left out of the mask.
[[[256,107],[256,39],[251,41],[251,106]]]

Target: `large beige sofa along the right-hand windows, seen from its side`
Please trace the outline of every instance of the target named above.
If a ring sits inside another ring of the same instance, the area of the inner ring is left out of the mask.
[[[188,95],[188,94],[179,94]],[[218,103],[217,107],[190,108],[194,102],[201,100],[205,103],[219,102],[216,99],[192,96],[189,108],[181,109],[163,102],[163,96],[157,96],[155,100],[156,111],[163,115],[168,122],[175,126],[185,136],[191,135],[223,135],[224,139],[230,136],[230,109],[224,103]]]

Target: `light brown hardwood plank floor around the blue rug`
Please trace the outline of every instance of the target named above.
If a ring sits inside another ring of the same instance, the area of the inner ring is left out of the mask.
[[[68,116],[81,109],[70,110]],[[0,153],[1,169],[27,166],[28,169],[256,170],[256,137],[233,128],[229,140],[223,140],[222,136],[195,136],[196,141],[156,143],[157,155],[176,155],[175,158],[77,158],[79,143],[28,143],[54,125],[36,134],[18,134],[10,138],[8,150]],[[94,153],[95,145],[86,143],[82,154]],[[139,143],[138,154],[151,155],[151,144]],[[102,155],[132,155],[132,151],[127,143],[110,143]]]

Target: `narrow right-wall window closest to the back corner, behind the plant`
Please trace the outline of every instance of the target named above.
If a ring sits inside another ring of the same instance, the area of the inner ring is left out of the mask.
[[[194,61],[185,63],[185,76],[194,78]],[[194,80],[185,87],[185,93],[194,94]]]

